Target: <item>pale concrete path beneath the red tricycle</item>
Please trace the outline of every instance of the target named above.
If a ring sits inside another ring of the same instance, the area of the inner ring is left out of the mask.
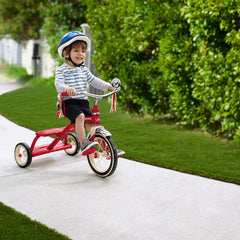
[[[34,132],[0,116],[0,134],[0,201],[71,239],[240,239],[239,185],[124,158],[101,179],[85,157],[64,152],[21,169],[14,147]]]

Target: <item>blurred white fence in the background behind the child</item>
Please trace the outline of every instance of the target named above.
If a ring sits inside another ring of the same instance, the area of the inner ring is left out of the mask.
[[[89,26],[82,24],[81,28],[83,33],[91,38]],[[91,64],[92,53],[93,50],[91,49],[86,53],[85,58],[85,66],[90,70],[93,69]],[[0,60],[4,60],[8,64],[22,66],[26,68],[28,74],[40,75],[42,77],[53,76],[57,68],[57,63],[49,54],[49,46],[43,37],[38,40],[29,40],[26,44],[21,45],[8,36],[5,36],[0,40]]]

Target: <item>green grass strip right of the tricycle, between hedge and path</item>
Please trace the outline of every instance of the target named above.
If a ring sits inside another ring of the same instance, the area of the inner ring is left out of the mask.
[[[181,172],[240,183],[239,145],[144,119],[104,118],[125,157]],[[122,124],[120,122],[123,122]],[[114,127],[113,127],[114,124]]]

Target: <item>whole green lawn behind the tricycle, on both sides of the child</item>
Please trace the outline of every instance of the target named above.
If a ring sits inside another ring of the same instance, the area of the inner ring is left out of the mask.
[[[99,109],[102,125],[113,134],[117,148],[126,152],[126,158],[240,184],[239,144],[179,129],[174,124],[133,118],[121,111],[110,114],[107,101],[99,102]],[[0,96],[0,113],[35,131],[69,122],[58,119],[56,110],[53,86],[25,87]]]

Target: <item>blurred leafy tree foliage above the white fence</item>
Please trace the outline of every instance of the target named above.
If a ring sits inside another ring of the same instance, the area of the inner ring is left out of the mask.
[[[0,0],[0,36],[24,42],[42,34],[57,58],[58,42],[66,32],[81,30],[85,10],[78,0]]]

